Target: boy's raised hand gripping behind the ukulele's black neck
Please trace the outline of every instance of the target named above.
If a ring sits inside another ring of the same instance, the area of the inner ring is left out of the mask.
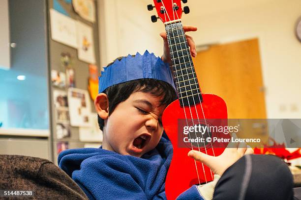
[[[184,32],[188,32],[188,31],[196,31],[197,27],[191,26],[191,25],[184,25],[183,26]],[[192,57],[196,56],[196,49],[195,49],[195,44],[194,41],[192,39],[192,37],[190,35],[186,35],[187,38],[187,42],[188,42],[188,46],[190,48],[190,53]],[[170,63],[171,59],[170,59],[170,53],[169,53],[169,48],[168,48],[168,42],[167,42],[167,37],[166,37],[166,33],[160,33],[160,36],[163,38],[163,55],[162,55],[162,60],[164,62]]]

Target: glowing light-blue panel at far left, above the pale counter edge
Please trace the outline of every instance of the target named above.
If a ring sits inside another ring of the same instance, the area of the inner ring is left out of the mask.
[[[33,75],[26,64],[14,67],[23,70],[0,70],[2,128],[48,129],[47,77]],[[26,79],[18,80],[18,75],[25,75]]]

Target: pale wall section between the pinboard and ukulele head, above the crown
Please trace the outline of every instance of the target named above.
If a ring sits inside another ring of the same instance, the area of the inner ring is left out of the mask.
[[[143,53],[145,50],[162,55],[160,22],[152,23],[154,11],[147,10],[149,0],[98,0],[101,66],[119,56]]]

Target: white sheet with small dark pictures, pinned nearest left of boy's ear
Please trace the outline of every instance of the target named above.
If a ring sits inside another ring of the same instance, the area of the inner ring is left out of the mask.
[[[91,105],[87,90],[68,89],[70,124],[72,126],[90,126]]]

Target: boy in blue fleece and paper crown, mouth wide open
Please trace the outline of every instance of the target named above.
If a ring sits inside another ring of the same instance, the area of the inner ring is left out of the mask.
[[[164,44],[162,57],[168,60],[167,43]],[[195,55],[192,44],[190,40]],[[95,99],[98,123],[103,130],[102,147],[65,150],[58,158],[60,168],[89,199],[166,199],[165,178],[173,147],[164,137],[161,117],[175,99],[169,65],[160,58],[146,51],[115,60],[102,73]],[[179,199],[212,199],[220,175],[248,153],[252,150],[245,144],[227,149],[218,157],[190,151],[189,156],[207,164],[217,176],[205,186],[192,186]]]

